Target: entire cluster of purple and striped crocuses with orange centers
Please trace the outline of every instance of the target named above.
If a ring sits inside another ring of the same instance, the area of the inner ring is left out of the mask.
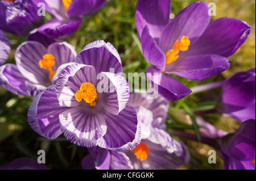
[[[210,22],[206,2],[195,2],[170,20],[170,0],[138,0],[135,24],[144,58],[152,66],[147,78],[158,96],[130,93],[118,50],[104,40],[85,45],[58,41],[76,32],[85,16],[106,0],[0,1],[0,85],[16,95],[32,97],[27,118],[40,136],[61,134],[88,150],[82,169],[178,169],[190,153],[178,137],[195,135],[167,129],[170,102],[191,94],[175,74],[201,81],[229,68],[228,57],[245,42],[250,26],[242,20]],[[44,23],[40,9],[54,16]],[[5,34],[27,36],[15,49],[15,64]],[[224,81],[216,110],[241,123],[224,132],[200,117],[202,142],[218,150],[225,169],[255,170],[255,68]],[[170,132],[169,132],[170,131]],[[0,169],[50,169],[21,158]]]

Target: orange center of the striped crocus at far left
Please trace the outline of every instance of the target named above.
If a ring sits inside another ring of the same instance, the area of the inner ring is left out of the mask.
[[[52,70],[52,66],[55,65],[54,59],[55,57],[52,54],[45,54],[43,59],[39,61],[40,68],[49,70],[50,81],[52,81],[52,77],[56,73],[56,71]]]

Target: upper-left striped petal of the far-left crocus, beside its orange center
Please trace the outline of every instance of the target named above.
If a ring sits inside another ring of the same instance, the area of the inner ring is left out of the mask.
[[[15,52],[16,65],[24,77],[36,84],[49,86],[49,71],[39,66],[39,61],[47,54],[46,47],[36,41],[25,41]]]

